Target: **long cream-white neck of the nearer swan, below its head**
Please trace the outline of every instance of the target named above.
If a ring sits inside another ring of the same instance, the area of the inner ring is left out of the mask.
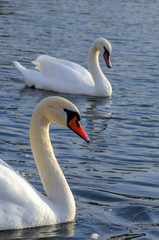
[[[75,201],[54,155],[49,125],[43,110],[36,108],[30,124],[31,148],[47,196],[66,218],[75,214]]]

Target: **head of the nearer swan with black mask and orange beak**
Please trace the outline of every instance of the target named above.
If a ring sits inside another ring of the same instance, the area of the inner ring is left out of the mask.
[[[80,124],[80,112],[72,102],[62,97],[47,97],[38,104],[37,108],[42,110],[42,115],[48,122],[69,128],[89,142],[89,137]]]

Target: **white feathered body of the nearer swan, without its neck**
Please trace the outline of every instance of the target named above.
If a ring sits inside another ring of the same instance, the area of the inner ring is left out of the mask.
[[[0,230],[47,225],[53,221],[47,198],[2,160],[0,186]]]

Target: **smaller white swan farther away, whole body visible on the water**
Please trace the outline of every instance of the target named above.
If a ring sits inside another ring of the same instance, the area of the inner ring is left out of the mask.
[[[32,62],[39,71],[26,69],[17,61],[14,64],[21,72],[28,87],[61,93],[107,97],[111,96],[112,87],[99,66],[99,52],[110,68],[112,66],[110,61],[111,44],[104,38],[96,39],[90,47],[88,54],[90,72],[74,62],[47,55],[41,55]]]

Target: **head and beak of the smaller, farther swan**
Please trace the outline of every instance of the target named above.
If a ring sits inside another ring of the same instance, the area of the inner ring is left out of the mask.
[[[110,61],[110,55],[112,52],[112,47],[110,42],[105,38],[98,38],[95,40],[94,45],[96,47],[96,50],[100,51],[100,53],[103,55],[107,67],[111,68],[112,63]]]

